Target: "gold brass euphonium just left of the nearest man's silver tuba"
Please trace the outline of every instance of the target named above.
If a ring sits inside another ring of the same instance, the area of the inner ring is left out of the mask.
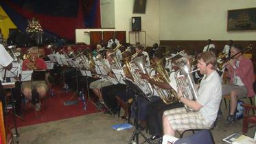
[[[150,77],[156,81],[156,82],[165,82],[170,84],[170,79],[168,76],[167,71],[163,67],[163,60],[158,60],[152,65],[152,71],[150,71]],[[158,75],[153,76],[152,72],[156,71]],[[171,89],[163,89],[159,88],[158,86],[153,85],[154,89],[156,90],[156,93],[159,94],[159,97],[165,102],[165,104],[172,104],[173,102],[176,102],[177,99],[177,93],[174,90],[174,88]]]

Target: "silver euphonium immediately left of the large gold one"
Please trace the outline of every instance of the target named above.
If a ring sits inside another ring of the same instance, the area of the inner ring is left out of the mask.
[[[152,88],[152,85],[147,81],[141,79],[141,76],[139,75],[139,71],[144,74],[148,74],[148,71],[146,70],[145,67],[145,62],[146,62],[146,56],[140,56],[138,58],[133,59],[130,63],[134,64],[133,67],[131,67],[131,73],[132,77],[134,79],[134,83],[143,89],[143,93],[147,95],[148,97],[151,97],[154,95],[154,91]]]

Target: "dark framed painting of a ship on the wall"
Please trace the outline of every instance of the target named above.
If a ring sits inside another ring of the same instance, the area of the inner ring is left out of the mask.
[[[228,10],[227,31],[256,30],[256,8]]]

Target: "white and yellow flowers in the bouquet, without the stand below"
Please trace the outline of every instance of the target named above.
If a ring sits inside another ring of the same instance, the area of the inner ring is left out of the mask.
[[[33,17],[32,21],[28,20],[27,22],[27,33],[43,33],[43,29],[37,19]]]

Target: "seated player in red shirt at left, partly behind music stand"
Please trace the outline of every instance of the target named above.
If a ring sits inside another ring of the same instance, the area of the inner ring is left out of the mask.
[[[44,70],[47,68],[45,61],[38,58],[38,48],[31,47],[28,58],[23,61],[22,71],[40,69]],[[40,110],[39,99],[45,97],[47,93],[47,85],[45,81],[32,81],[23,82],[21,85],[21,92],[27,99],[31,100],[31,103],[35,105],[35,110]]]

